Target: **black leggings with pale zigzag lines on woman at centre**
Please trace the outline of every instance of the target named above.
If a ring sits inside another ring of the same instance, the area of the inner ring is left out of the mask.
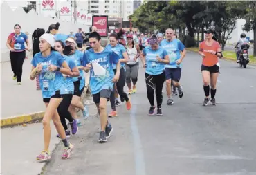
[[[165,73],[160,75],[149,75],[145,73],[147,85],[147,98],[151,106],[154,106],[154,90],[156,89],[157,107],[161,108],[163,102],[163,83],[165,82]]]

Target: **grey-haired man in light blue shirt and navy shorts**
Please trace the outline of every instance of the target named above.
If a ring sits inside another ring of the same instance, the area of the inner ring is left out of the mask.
[[[165,82],[167,92],[167,104],[174,104],[172,100],[171,82],[173,81],[174,86],[178,87],[179,97],[183,97],[182,86],[179,83],[181,80],[181,62],[185,57],[185,46],[179,39],[174,38],[174,30],[168,28],[165,31],[166,39],[161,42],[161,46],[167,50],[170,57],[170,64],[165,65]]]

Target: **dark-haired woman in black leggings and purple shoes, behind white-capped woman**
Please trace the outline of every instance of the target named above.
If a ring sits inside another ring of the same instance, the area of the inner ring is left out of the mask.
[[[64,127],[66,132],[66,137],[70,138],[71,133],[68,130],[68,126],[66,125],[66,119],[69,121],[71,125],[72,134],[74,135],[78,131],[76,120],[72,118],[71,113],[68,111],[68,107],[71,104],[73,92],[74,92],[74,84],[73,84],[72,77],[78,77],[80,75],[80,72],[77,66],[75,65],[75,62],[73,61],[73,59],[71,59],[70,57],[67,57],[63,53],[64,49],[66,53],[70,53],[72,51],[71,46],[65,46],[64,42],[59,40],[55,42],[54,48],[64,57],[66,63],[68,64],[69,68],[72,71],[72,75],[63,75],[64,81],[66,82],[66,88],[68,89],[68,94],[65,94],[63,96],[63,100],[60,103],[60,106],[57,108],[57,111],[60,115],[60,120],[62,122],[62,126]],[[60,137],[60,135],[58,134],[57,137]]]

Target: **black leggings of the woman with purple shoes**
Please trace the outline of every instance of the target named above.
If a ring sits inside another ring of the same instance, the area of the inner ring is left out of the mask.
[[[68,111],[68,107],[71,104],[72,101],[72,94],[65,94],[63,96],[62,102],[60,102],[59,107],[57,107],[57,111],[60,116],[60,121],[62,122],[62,126],[65,130],[68,129],[68,126],[66,125],[66,119],[71,123],[73,122],[73,118],[71,116],[71,113]]]

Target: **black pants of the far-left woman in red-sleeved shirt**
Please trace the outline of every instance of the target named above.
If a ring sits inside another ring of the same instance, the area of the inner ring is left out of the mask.
[[[26,51],[10,52],[10,64],[12,66],[13,76],[17,77],[17,82],[21,82],[22,66],[26,57]]]

